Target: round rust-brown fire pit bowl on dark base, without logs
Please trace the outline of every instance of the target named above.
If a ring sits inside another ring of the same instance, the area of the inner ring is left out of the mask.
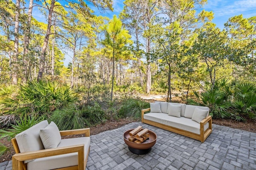
[[[156,133],[148,130],[149,139],[142,143],[134,143],[128,140],[128,138],[130,137],[129,132],[132,130],[133,129],[130,129],[124,132],[124,142],[126,143],[126,145],[128,145],[129,150],[135,154],[147,154],[148,152],[150,152],[151,148],[156,143]]]

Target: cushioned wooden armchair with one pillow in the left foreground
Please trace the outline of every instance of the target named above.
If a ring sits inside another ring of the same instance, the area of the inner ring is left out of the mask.
[[[84,134],[85,137],[62,139],[64,135]],[[90,129],[59,131],[48,121],[30,127],[12,139],[16,154],[14,170],[84,170],[90,150]]]

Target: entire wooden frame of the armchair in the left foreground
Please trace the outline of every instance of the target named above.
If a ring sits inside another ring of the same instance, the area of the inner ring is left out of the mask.
[[[61,136],[78,135],[78,134],[85,134],[85,137],[90,137],[90,128],[60,131]],[[27,164],[25,164],[23,162],[24,160],[43,158],[43,157],[48,157],[48,156],[60,155],[60,154],[68,154],[68,153],[73,153],[73,152],[78,152],[78,165],[77,166],[69,166],[69,167],[65,167],[65,168],[58,168],[56,170],[85,170],[85,168],[86,168],[86,163],[87,163],[90,147],[88,149],[86,159],[84,159],[84,144],[20,153],[20,149],[18,147],[16,138],[13,138],[11,141],[12,141],[14,150],[16,152],[16,154],[14,154],[12,156],[12,169],[13,170],[27,170]]]

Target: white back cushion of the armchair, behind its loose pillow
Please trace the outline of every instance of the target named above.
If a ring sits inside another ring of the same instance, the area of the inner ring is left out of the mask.
[[[18,143],[20,152],[22,153],[44,149],[44,145],[40,139],[39,132],[40,129],[45,128],[48,125],[48,121],[44,120],[16,135],[15,138]],[[24,162],[27,163],[32,160],[25,160]]]

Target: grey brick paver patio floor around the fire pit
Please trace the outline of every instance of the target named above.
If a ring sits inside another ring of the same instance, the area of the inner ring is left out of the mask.
[[[123,133],[138,126],[158,136],[146,155],[129,151]],[[212,125],[204,143],[141,122],[91,136],[88,170],[256,170],[256,133]],[[11,161],[0,170],[11,170]]]

